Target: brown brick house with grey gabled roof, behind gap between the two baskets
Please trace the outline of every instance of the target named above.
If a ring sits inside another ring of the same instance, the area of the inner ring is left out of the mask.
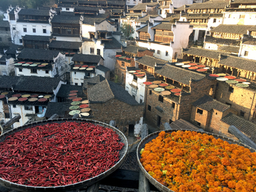
[[[115,120],[117,127],[123,131],[124,127],[134,129],[134,125],[143,117],[144,104],[139,104],[123,87],[109,80],[96,85],[88,83],[87,97],[93,119],[107,123]]]

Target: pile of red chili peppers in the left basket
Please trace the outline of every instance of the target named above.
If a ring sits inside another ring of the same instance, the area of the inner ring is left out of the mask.
[[[124,144],[112,129],[88,122],[24,129],[0,143],[0,177],[27,186],[65,186],[119,161]]]

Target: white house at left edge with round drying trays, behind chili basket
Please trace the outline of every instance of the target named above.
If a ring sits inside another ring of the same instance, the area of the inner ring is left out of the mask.
[[[47,109],[48,102],[56,101],[60,85],[59,78],[33,76],[0,76],[0,120],[8,121],[20,114],[21,119],[14,127],[33,120]]]

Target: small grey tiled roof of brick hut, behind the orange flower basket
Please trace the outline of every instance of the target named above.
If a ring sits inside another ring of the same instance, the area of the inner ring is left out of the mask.
[[[212,97],[208,95],[204,95],[200,99],[193,102],[193,106],[198,107],[202,110],[210,111],[210,110],[218,110],[219,112],[225,112],[230,108],[229,105],[225,105],[222,102],[218,102],[217,100],[213,100]]]

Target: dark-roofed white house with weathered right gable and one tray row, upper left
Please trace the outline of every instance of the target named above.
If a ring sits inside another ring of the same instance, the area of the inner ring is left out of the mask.
[[[65,79],[68,65],[65,63],[65,55],[58,50],[24,48],[17,58],[18,62],[14,64],[16,76],[58,76]]]

